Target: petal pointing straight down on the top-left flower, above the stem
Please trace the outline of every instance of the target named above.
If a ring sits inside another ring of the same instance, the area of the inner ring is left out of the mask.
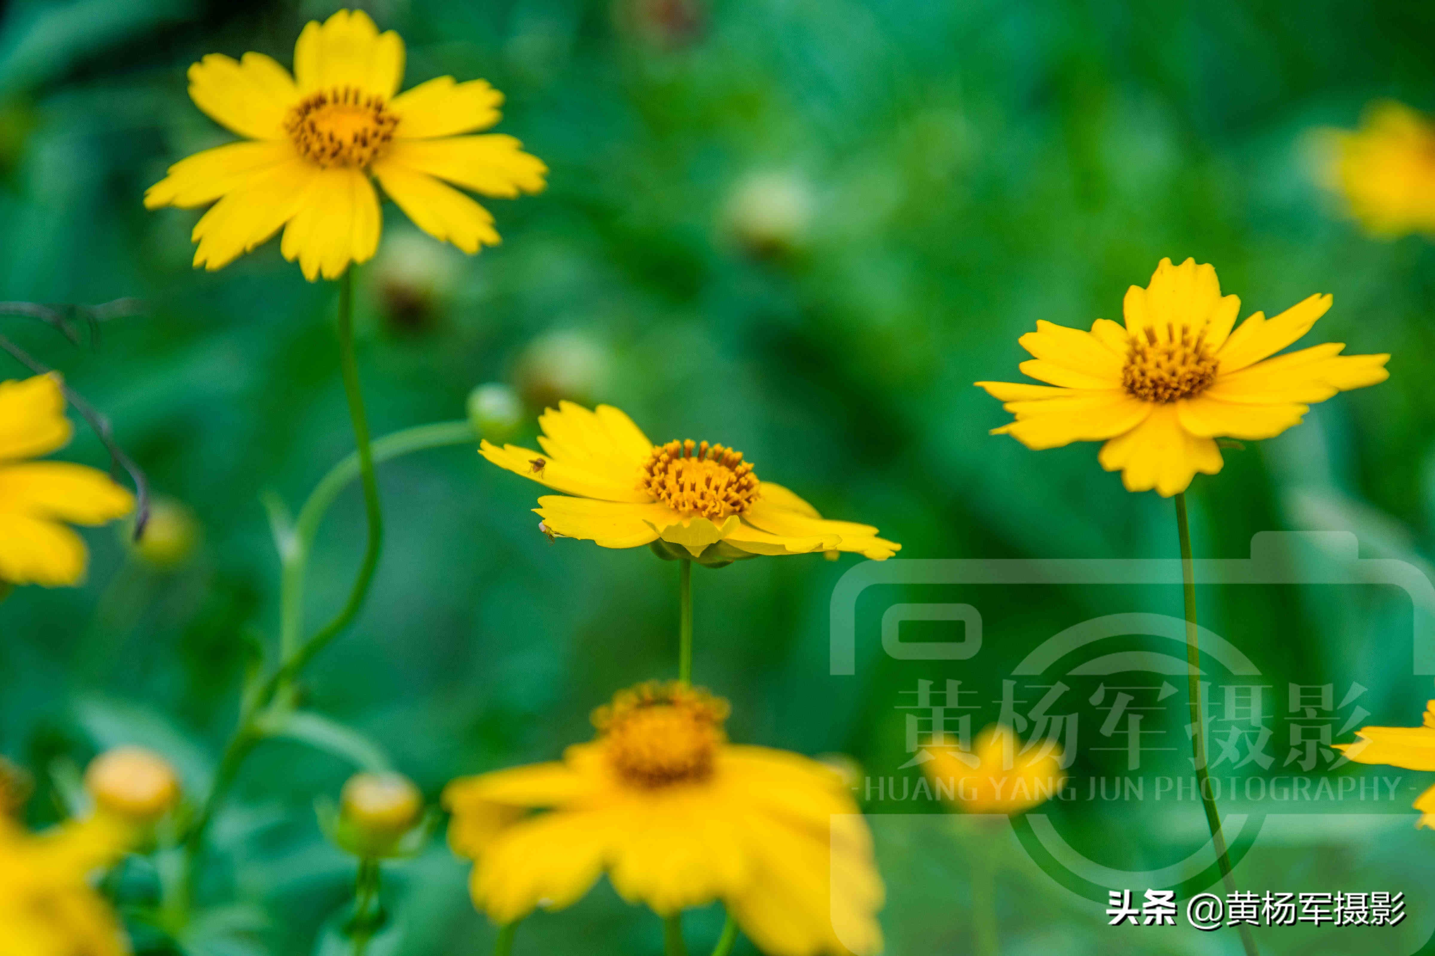
[[[334,14],[339,16],[339,14]],[[336,279],[350,262],[367,262],[379,248],[382,219],[373,183],[359,169],[331,166],[314,173],[284,228],[280,251],[310,282]]]

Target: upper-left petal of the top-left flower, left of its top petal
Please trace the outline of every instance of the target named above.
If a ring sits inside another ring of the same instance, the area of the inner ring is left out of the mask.
[[[211,53],[189,67],[189,99],[240,136],[287,139],[284,118],[298,102],[298,87],[263,53],[245,53],[238,62]]]

